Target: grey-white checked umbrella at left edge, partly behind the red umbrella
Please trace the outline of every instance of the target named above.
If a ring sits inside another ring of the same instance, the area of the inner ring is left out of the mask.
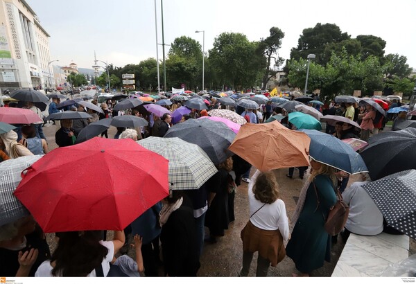
[[[13,193],[21,181],[21,171],[40,157],[42,155],[24,156],[0,163],[0,226],[30,214]]]

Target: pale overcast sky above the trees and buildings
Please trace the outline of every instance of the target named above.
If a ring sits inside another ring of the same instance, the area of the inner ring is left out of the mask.
[[[51,35],[51,60],[91,68],[97,59],[115,66],[156,58],[154,0],[26,0]],[[162,44],[161,1],[157,5],[157,37]],[[384,39],[385,54],[405,55],[416,69],[416,0],[241,1],[164,0],[164,42],[191,37],[205,51],[220,33],[247,35],[250,41],[270,35],[272,26],[284,31],[279,55],[288,59],[304,28],[318,22],[336,24],[343,33]],[[168,53],[166,46],[165,53]],[[159,45],[162,60],[162,46]]]

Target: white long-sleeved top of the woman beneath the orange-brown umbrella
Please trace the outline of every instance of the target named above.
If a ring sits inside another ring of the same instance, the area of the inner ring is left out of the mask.
[[[257,177],[260,175],[260,171],[257,170],[250,179],[248,184],[248,202],[250,205],[250,216],[257,211],[263,202],[260,202],[254,197],[253,186],[256,183]],[[266,204],[257,213],[255,213],[250,221],[254,226],[259,229],[273,231],[279,229],[281,236],[284,240],[289,238],[289,222],[286,215],[286,206],[283,200],[277,199],[272,204]]]

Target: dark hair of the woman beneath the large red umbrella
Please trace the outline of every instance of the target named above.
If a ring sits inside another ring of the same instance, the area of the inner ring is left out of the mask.
[[[100,244],[103,231],[59,233],[58,247],[51,256],[53,276],[87,276],[101,265],[108,249]]]

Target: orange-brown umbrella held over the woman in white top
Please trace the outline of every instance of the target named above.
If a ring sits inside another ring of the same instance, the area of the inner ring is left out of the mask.
[[[289,130],[278,121],[246,123],[229,146],[261,171],[309,166],[311,139],[302,132]]]

